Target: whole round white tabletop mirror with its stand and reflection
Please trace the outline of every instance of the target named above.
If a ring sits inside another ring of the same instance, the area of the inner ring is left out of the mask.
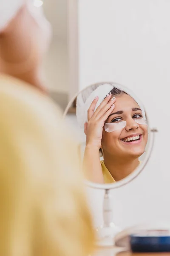
[[[69,102],[64,118],[74,127],[85,183],[104,189],[103,223],[97,245],[113,246],[119,227],[113,223],[111,189],[139,175],[153,148],[154,131],[142,102],[128,88],[113,82],[92,84]]]

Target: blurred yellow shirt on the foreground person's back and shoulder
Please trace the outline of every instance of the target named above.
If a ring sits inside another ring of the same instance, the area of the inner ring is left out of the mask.
[[[0,74],[0,255],[91,253],[93,222],[70,134],[48,96]]]

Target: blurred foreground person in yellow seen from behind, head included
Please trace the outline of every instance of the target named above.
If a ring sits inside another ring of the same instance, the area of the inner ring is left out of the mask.
[[[39,90],[48,25],[38,29],[27,4],[0,1],[0,255],[87,256],[94,234],[77,147]]]

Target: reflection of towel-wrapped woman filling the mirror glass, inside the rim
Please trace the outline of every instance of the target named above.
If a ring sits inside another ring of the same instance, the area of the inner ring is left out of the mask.
[[[74,99],[68,117],[79,127],[79,152],[88,180],[115,183],[144,160],[147,118],[142,102],[126,87],[98,83],[85,88]]]

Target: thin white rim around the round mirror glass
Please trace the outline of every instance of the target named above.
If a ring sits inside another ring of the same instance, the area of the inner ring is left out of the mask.
[[[96,84],[117,84],[117,83],[113,83],[113,82],[99,82]],[[92,85],[92,84],[91,84]],[[91,85],[87,86],[86,88],[90,87]],[[95,85],[95,84],[93,84]],[[122,86],[121,84],[118,84],[120,87],[127,89],[127,87]],[[84,88],[83,90],[85,90],[86,88]],[[83,90],[79,91],[78,93],[76,93],[76,95],[71,99],[71,101],[68,103],[64,114],[63,114],[63,119],[65,119],[65,116],[68,113],[69,108],[71,107],[71,105],[73,104],[75,98],[78,96],[79,93],[81,93]],[[129,90],[129,89],[127,89]],[[146,111],[145,111],[146,113]],[[147,116],[147,123],[148,123],[148,127],[150,128],[149,125],[149,118]],[[99,183],[94,183],[91,182],[89,180],[85,180],[85,184],[88,187],[94,188],[94,189],[104,189],[104,190],[110,190],[110,189],[116,189],[119,188],[121,186],[125,186],[126,184],[130,183],[130,181],[134,180],[144,169],[144,167],[147,165],[147,162],[150,159],[150,155],[152,153],[153,150],[153,146],[154,146],[154,140],[155,140],[155,132],[157,132],[156,128],[150,128],[150,140],[149,140],[149,145],[148,145],[148,149],[147,149],[147,154],[146,157],[144,159],[144,161],[142,162],[142,164],[136,168],[135,171],[133,171],[130,175],[128,175],[127,177],[125,177],[122,180],[117,181],[116,183],[111,183],[111,184],[99,184]]]

